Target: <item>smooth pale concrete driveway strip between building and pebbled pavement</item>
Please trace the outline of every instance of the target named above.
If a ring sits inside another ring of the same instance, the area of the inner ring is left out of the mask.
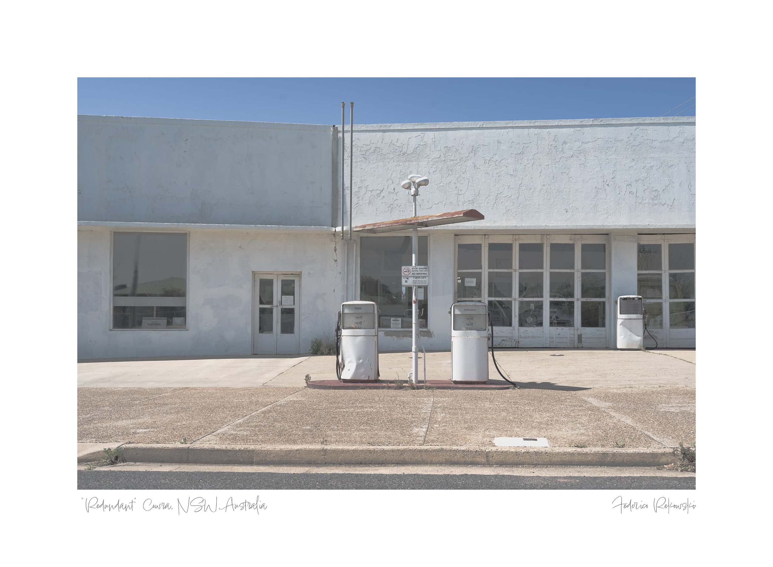
[[[424,359],[420,354],[419,377]],[[695,350],[497,350],[496,360],[522,388],[695,386]],[[407,379],[410,353],[381,353],[383,380]],[[164,388],[305,385],[335,378],[332,356],[187,357],[155,360],[95,360],[78,364],[79,387]],[[489,356],[489,376],[499,379]],[[451,353],[427,353],[427,379],[451,377]]]

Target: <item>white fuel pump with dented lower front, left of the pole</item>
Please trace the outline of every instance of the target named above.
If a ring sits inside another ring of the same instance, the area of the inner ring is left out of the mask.
[[[374,302],[348,301],[341,304],[335,356],[335,371],[339,380],[367,382],[378,378],[378,320],[379,308]]]

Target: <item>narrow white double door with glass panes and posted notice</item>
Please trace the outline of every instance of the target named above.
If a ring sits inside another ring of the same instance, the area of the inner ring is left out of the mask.
[[[254,272],[253,354],[298,354],[301,276]]]

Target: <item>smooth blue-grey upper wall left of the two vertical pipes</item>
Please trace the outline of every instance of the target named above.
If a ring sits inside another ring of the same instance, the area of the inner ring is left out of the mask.
[[[78,117],[78,220],[332,226],[332,126]]]

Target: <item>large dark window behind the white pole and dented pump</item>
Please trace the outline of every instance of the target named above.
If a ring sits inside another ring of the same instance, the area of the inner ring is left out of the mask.
[[[417,264],[428,265],[427,237],[419,237]],[[479,254],[479,253],[478,253]],[[410,236],[363,237],[359,245],[359,299],[379,306],[381,329],[410,329],[413,289],[400,268],[411,264]],[[479,272],[478,272],[479,274]],[[476,278],[480,285],[480,276]],[[427,288],[417,289],[419,326],[427,326]]]

